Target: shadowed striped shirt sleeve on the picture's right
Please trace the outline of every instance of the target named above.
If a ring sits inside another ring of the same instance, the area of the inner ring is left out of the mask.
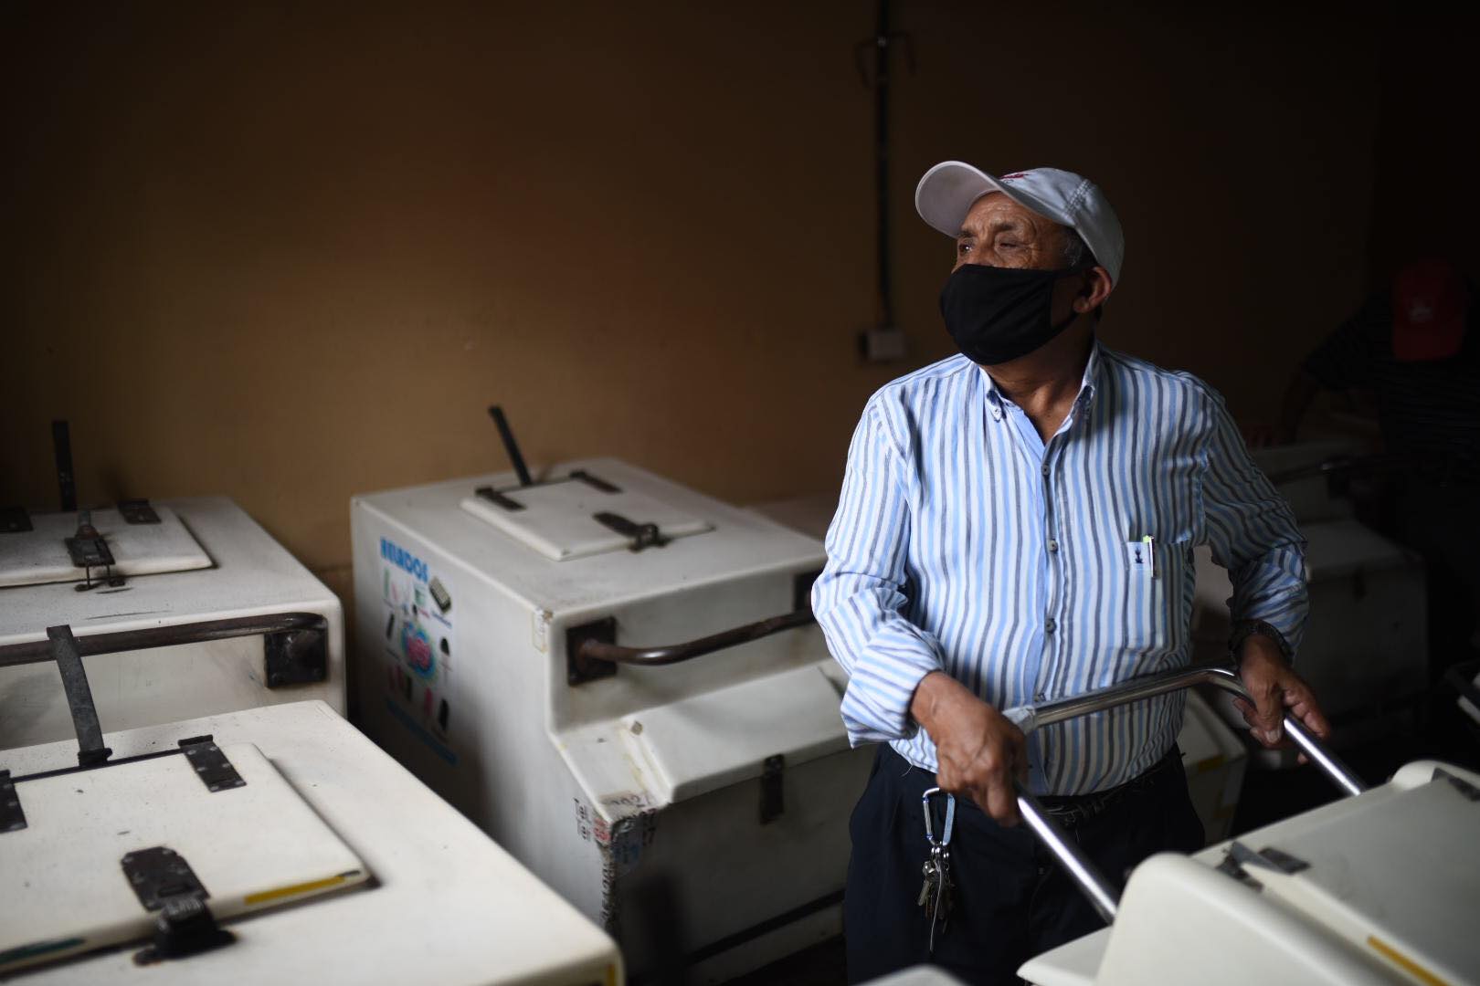
[[[1291,653],[1305,633],[1305,540],[1285,498],[1249,458],[1222,398],[1208,392],[1211,427],[1203,446],[1202,510],[1212,560],[1228,569],[1233,622],[1262,619]]]

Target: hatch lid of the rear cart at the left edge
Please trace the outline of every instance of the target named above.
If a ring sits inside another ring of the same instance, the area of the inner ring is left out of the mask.
[[[173,510],[157,504],[147,510],[158,520],[139,520],[139,513],[130,510],[126,516],[118,507],[86,511],[112,556],[112,575],[130,578],[210,568],[210,556]],[[132,523],[129,516],[135,517]],[[30,531],[0,534],[0,588],[87,578],[87,571],[73,563],[67,547],[67,540],[78,534],[80,517],[78,511],[31,514]],[[95,566],[92,578],[102,577],[104,568]]]

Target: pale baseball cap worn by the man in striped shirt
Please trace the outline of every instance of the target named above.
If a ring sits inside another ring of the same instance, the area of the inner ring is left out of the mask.
[[[1100,186],[1082,174],[1039,167],[993,177],[965,161],[941,161],[915,188],[915,208],[931,228],[955,239],[971,204],[987,192],[1002,192],[1023,208],[1077,232],[1110,272],[1110,282],[1120,284],[1125,260],[1120,220]]]

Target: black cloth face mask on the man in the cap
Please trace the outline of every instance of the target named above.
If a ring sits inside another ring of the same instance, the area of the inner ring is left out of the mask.
[[[1085,271],[1020,271],[965,263],[940,293],[940,313],[956,346],[989,367],[1026,356],[1069,328],[1076,312],[1058,325],[1049,318],[1054,285]]]

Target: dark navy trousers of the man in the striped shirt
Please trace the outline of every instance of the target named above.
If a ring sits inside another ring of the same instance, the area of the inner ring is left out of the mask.
[[[1017,983],[1032,956],[1104,927],[1104,921],[1026,825],[1003,828],[966,798],[956,800],[950,844],[955,908],[937,927],[918,905],[929,857],[921,795],[935,776],[879,747],[869,785],[848,822],[852,854],[844,900],[848,982],[934,962],[968,983]],[[1103,810],[1064,823],[1114,887],[1143,859],[1202,849],[1203,829],[1187,797],[1181,757],[1132,781]]]

